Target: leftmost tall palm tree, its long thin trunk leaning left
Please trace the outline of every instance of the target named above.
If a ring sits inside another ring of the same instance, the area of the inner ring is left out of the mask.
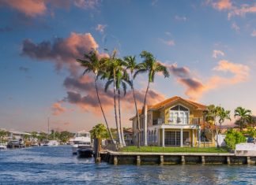
[[[95,89],[96,89],[98,102],[100,104],[101,113],[104,116],[105,124],[107,125],[107,131],[111,137],[111,141],[113,143],[115,143],[113,136],[111,134],[110,128],[107,123],[107,118],[105,116],[104,109],[100,102],[100,95],[99,95],[99,91],[98,91],[98,87],[97,87],[97,77],[100,74],[100,72],[102,70],[104,70],[106,64],[105,64],[104,60],[98,59],[98,54],[97,54],[96,50],[92,50],[91,52],[89,52],[89,54],[85,54],[85,59],[77,59],[77,61],[81,64],[82,67],[85,68],[85,72],[83,73],[83,75],[85,75],[86,72],[92,72],[94,74]]]

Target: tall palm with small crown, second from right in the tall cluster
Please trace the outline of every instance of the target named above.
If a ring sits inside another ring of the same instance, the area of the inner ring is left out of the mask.
[[[135,105],[136,116],[137,116],[137,130],[138,130],[137,147],[140,148],[140,146],[141,146],[141,142],[140,142],[141,141],[141,120],[140,120],[138,109],[137,109],[137,101],[136,101],[135,92],[134,92],[133,78],[134,78],[134,71],[143,68],[143,65],[136,63],[135,56],[124,57],[124,61],[126,61],[126,63],[125,63],[126,70],[128,69],[130,71],[130,87],[131,87],[131,89],[133,91],[133,95],[134,95],[134,105]]]

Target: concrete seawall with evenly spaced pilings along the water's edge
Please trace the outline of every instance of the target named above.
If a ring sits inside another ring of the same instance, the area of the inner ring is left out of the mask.
[[[210,153],[132,153],[100,152],[101,159],[113,165],[226,164],[256,165],[256,156]]]

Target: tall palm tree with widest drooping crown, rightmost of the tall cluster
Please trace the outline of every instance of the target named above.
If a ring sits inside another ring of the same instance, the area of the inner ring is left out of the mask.
[[[144,104],[143,104],[143,109],[144,109],[144,145],[148,146],[148,141],[146,137],[146,126],[147,126],[147,113],[145,109],[146,101],[147,101],[147,94],[149,91],[149,84],[154,82],[155,74],[158,72],[163,73],[164,78],[169,77],[169,72],[168,69],[162,65],[159,61],[156,61],[156,57],[154,57],[151,53],[148,51],[142,51],[140,56],[144,59],[143,63],[141,63],[141,68],[138,69],[134,73],[134,78],[137,76],[137,74],[148,72],[148,86],[145,91],[145,98],[144,98]]]

